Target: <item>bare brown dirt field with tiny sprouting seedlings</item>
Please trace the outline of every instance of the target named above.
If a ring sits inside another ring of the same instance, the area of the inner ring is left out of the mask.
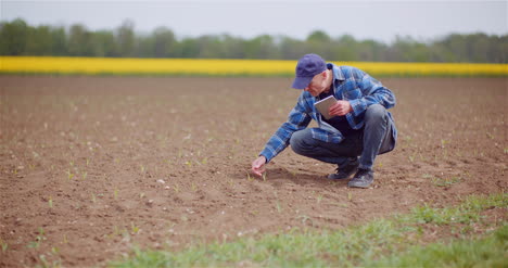
[[[507,78],[382,79],[399,139],[371,189],[287,149],[251,162],[291,78],[0,77],[0,267],[104,266],[140,247],[343,228],[506,191]]]

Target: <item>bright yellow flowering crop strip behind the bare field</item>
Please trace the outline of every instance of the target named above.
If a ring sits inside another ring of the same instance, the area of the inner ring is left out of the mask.
[[[372,76],[508,76],[508,64],[335,62]],[[0,73],[291,76],[296,61],[0,56]]]

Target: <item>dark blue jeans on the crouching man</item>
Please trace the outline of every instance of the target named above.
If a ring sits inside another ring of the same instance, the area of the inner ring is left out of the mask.
[[[345,137],[341,143],[316,140],[310,129],[304,129],[291,136],[290,144],[297,154],[336,164],[339,168],[358,165],[359,168],[372,170],[376,156],[394,149],[394,127],[386,109],[373,104],[365,113],[363,131]]]

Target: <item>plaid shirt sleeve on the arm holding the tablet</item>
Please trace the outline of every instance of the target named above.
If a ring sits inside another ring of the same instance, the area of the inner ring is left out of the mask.
[[[353,113],[355,116],[364,113],[368,106],[372,104],[381,104],[385,109],[391,109],[395,105],[395,95],[393,92],[385,88],[380,81],[371,77],[370,75],[359,71],[359,88],[361,90],[363,98],[350,100],[351,106],[353,107]],[[353,71],[353,72],[355,72]]]

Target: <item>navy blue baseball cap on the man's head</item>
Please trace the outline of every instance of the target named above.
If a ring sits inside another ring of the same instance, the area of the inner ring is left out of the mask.
[[[296,77],[293,88],[305,89],[313,80],[314,76],[327,69],[327,63],[317,54],[306,54],[296,64]]]

